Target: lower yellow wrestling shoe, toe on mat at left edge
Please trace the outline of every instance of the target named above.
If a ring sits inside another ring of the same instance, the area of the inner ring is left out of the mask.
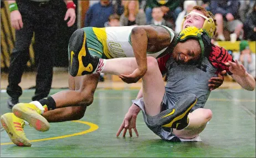
[[[6,113],[1,116],[1,124],[14,144],[31,146],[23,130],[25,126],[24,120],[17,118],[13,113]]]

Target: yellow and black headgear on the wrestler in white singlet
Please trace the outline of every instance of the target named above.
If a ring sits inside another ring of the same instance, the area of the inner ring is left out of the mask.
[[[201,62],[204,56],[208,56],[212,48],[211,38],[204,29],[198,29],[196,27],[187,27],[183,29],[177,36],[178,42],[185,42],[188,39],[196,39],[199,41],[201,46],[201,57],[199,62]]]

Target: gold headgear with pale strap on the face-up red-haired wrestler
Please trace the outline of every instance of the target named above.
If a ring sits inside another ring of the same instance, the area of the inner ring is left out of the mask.
[[[186,20],[186,17],[187,17],[188,15],[191,15],[191,14],[199,15],[200,17],[203,17],[203,18],[205,19],[205,20],[204,20],[204,23],[203,23],[202,29],[206,30],[207,33],[209,34],[209,36],[212,38],[212,37],[214,36],[215,31],[216,31],[216,25],[215,25],[215,23],[214,23],[213,18],[211,18],[211,17],[206,17],[206,16],[204,16],[204,15],[202,15],[202,14],[200,14],[200,13],[197,13],[197,12],[193,12],[193,11],[192,11],[192,12],[190,12],[189,14],[187,14],[187,15],[183,18],[183,21],[182,21],[182,23],[181,23],[181,30],[183,29],[183,24],[184,24],[184,22],[185,22],[185,20]]]

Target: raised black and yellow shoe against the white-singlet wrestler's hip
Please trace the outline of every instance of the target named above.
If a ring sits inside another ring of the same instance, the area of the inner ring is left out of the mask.
[[[95,71],[99,58],[91,56],[83,29],[74,31],[69,40],[69,73],[71,76],[83,76]]]

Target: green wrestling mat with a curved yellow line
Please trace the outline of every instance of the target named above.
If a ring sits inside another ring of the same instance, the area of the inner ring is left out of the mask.
[[[52,89],[51,94],[61,89]],[[255,91],[216,89],[205,108],[213,118],[200,134],[202,142],[163,141],[137,117],[139,137],[116,137],[116,132],[138,90],[97,89],[94,103],[77,122],[50,123],[49,131],[24,128],[31,147],[11,143],[1,127],[1,157],[255,157]],[[23,91],[20,102],[30,102],[34,90]],[[1,93],[1,114],[8,95]]]

